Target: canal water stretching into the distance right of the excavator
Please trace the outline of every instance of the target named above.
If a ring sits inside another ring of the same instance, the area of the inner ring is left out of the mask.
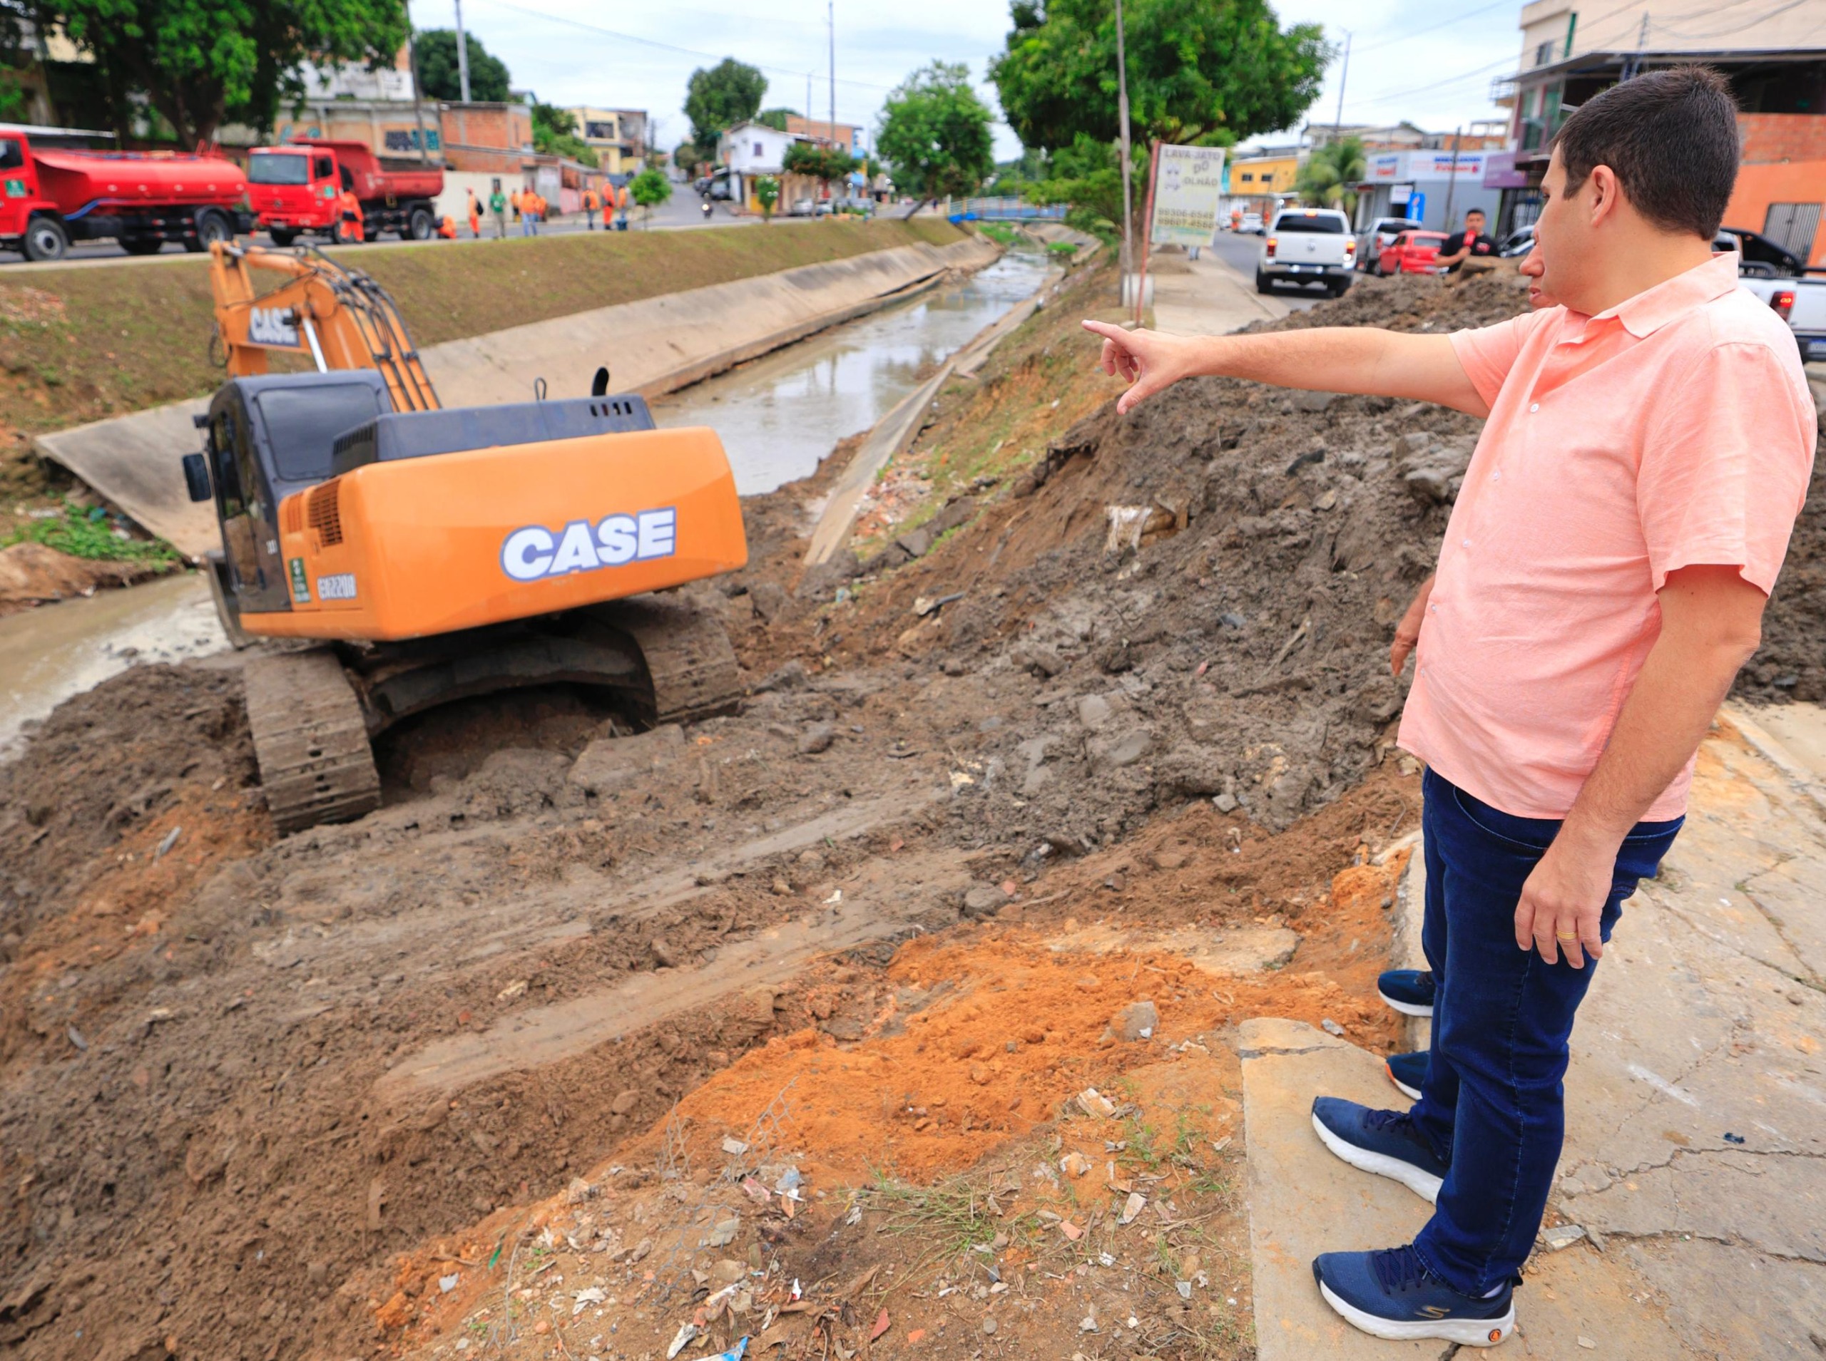
[[[940,363],[1050,277],[1008,252],[964,283],[741,365],[652,403],[659,425],[710,425],[743,496],[803,478],[847,434],[875,425]]]

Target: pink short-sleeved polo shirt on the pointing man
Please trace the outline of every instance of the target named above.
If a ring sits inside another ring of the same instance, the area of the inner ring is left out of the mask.
[[[1452,507],[1401,744],[1516,817],[1565,817],[1662,629],[1656,591],[1764,593],[1813,469],[1795,338],[1716,255],[1629,301],[1452,338],[1490,420]],[[1693,763],[1645,814],[1678,817]]]

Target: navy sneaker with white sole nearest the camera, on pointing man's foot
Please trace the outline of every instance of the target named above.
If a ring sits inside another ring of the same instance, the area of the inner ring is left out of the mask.
[[[1461,1295],[1428,1272],[1411,1246],[1326,1252],[1313,1259],[1313,1279],[1346,1323],[1375,1337],[1495,1346],[1516,1332],[1514,1281],[1488,1299]]]

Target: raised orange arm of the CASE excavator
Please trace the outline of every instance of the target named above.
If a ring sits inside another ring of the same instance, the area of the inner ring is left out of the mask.
[[[281,275],[261,292],[254,270]],[[394,410],[438,410],[436,389],[418,361],[393,297],[362,270],[314,248],[265,250],[228,241],[210,244],[215,334],[228,374],[267,372],[270,350],[309,354],[318,372],[374,369]]]

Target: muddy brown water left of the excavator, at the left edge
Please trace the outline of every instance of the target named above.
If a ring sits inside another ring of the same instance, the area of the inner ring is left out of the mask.
[[[208,582],[194,571],[0,618],[0,759],[18,730],[137,662],[179,662],[228,646]]]

